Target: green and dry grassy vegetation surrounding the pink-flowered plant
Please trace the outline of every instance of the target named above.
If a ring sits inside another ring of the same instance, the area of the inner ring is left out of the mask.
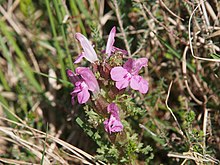
[[[0,162],[219,163],[218,0],[0,0],[0,16]],[[149,59],[149,92],[123,100],[123,160],[91,126],[97,115],[71,105],[65,73],[81,52],[76,32],[104,50],[113,26],[117,47]]]

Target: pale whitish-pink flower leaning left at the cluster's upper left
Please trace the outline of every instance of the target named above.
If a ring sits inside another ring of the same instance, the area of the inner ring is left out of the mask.
[[[89,42],[89,40],[81,33],[76,33],[75,38],[80,42],[84,52],[82,52],[77,57],[77,59],[74,63],[79,63],[83,57],[85,57],[91,63],[98,61],[98,57],[96,55],[96,52],[93,49],[92,44]]]

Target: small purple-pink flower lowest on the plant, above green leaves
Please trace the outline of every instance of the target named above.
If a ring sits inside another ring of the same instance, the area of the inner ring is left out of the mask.
[[[115,103],[111,103],[107,107],[108,113],[110,113],[109,119],[104,121],[105,131],[108,133],[121,132],[123,130],[123,125],[119,118],[119,108]]]

